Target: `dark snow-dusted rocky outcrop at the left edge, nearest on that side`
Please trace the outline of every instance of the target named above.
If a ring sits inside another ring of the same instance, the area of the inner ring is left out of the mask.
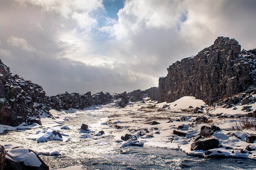
[[[41,86],[19,75],[12,76],[0,60],[0,124],[18,126],[22,122],[51,116],[49,97]]]

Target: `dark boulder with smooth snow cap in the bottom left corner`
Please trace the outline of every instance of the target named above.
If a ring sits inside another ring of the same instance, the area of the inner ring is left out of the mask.
[[[49,167],[42,159],[32,150],[28,148],[14,148],[7,152],[7,156],[11,159],[20,162],[24,169],[31,170],[49,170]],[[12,169],[12,167],[8,167]]]

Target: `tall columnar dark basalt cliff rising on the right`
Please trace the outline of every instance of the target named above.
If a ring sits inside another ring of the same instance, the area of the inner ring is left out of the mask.
[[[212,104],[255,85],[256,49],[242,50],[235,39],[218,37],[193,58],[169,66],[159,78],[159,102],[195,96]]]

